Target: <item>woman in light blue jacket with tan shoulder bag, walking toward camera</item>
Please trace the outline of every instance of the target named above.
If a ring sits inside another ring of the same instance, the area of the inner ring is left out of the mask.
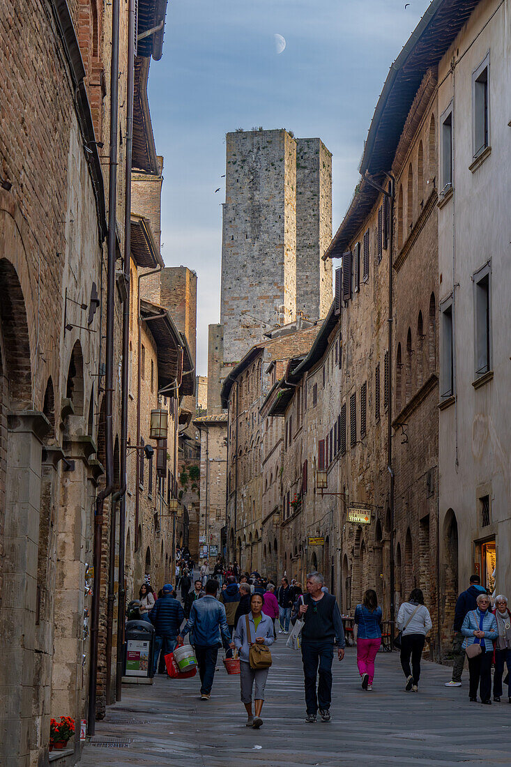
[[[241,700],[246,708],[247,727],[258,729],[262,725],[261,712],[265,700],[265,684],[272,655],[268,645],[273,644],[273,621],[262,612],[262,594],[252,594],[250,612],[239,617],[232,637],[239,652],[239,683]],[[252,716],[252,688],[255,684]]]

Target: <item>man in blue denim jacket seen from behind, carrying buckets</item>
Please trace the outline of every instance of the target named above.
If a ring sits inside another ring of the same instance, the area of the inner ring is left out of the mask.
[[[197,658],[200,676],[200,698],[209,700],[213,678],[215,676],[218,648],[234,647],[227,625],[226,608],[216,599],[219,590],[218,581],[210,579],[206,583],[206,596],[193,602],[190,617],[186,621],[178,642],[193,630],[193,647]]]

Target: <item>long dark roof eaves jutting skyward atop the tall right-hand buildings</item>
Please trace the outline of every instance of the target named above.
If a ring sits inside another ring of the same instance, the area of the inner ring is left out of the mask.
[[[424,74],[437,67],[479,2],[433,0],[391,65],[364,144],[359,168],[362,179],[323,260],[341,258],[360,231],[379,194],[364,179],[365,174],[381,184],[384,174],[391,170],[404,123]]]

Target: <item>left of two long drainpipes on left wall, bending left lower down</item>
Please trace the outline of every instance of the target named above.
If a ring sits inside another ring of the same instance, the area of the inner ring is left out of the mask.
[[[105,356],[105,459],[107,482],[97,495],[94,510],[94,594],[91,609],[91,676],[89,681],[89,734],[96,729],[97,641],[100,614],[101,542],[103,538],[104,499],[112,492],[114,483],[114,439],[112,428],[114,389],[114,298],[117,208],[117,128],[119,124],[119,5],[112,0],[112,55],[110,61],[110,173],[108,179],[108,257],[107,257],[107,338]],[[114,506],[112,507],[114,522]]]

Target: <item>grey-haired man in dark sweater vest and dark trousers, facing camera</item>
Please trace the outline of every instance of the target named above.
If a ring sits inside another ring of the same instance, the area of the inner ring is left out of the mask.
[[[302,662],[305,676],[305,722],[315,723],[318,713],[324,722],[330,721],[331,704],[331,663],[334,659],[334,640],[337,642],[338,659],[345,657],[345,632],[342,628],[341,613],[333,594],[325,594],[321,587],[325,579],[321,573],[307,576],[307,594],[304,604],[298,607],[302,618]],[[319,683],[316,695],[316,683]]]

